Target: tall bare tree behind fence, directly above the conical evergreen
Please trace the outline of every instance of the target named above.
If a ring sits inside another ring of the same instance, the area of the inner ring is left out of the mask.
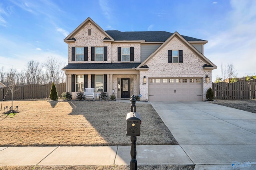
[[[56,58],[48,57],[44,63],[44,68],[46,69],[47,82],[59,83],[59,72],[60,72],[60,62]]]

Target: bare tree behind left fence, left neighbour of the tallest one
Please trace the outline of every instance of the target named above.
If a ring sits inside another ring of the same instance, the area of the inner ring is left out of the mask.
[[[27,84],[40,84],[42,67],[38,61],[30,60],[26,65]]]

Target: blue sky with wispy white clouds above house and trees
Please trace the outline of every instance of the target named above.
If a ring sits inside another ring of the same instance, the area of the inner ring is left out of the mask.
[[[256,74],[255,0],[1,0],[0,68],[48,57],[68,63],[63,39],[90,17],[104,30],[177,31],[207,40],[204,55],[238,77]]]

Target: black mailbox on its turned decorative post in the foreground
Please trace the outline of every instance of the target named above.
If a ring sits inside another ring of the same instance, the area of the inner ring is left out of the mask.
[[[136,98],[132,95],[131,101],[131,112],[126,115],[126,135],[131,136],[131,161],[130,161],[130,169],[137,170],[137,160],[136,160],[136,140],[137,136],[140,136],[140,124],[141,117],[140,114],[136,112]]]

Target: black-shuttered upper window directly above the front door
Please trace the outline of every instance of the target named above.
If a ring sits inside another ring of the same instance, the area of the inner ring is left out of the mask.
[[[134,61],[134,47],[117,47],[117,61]]]

